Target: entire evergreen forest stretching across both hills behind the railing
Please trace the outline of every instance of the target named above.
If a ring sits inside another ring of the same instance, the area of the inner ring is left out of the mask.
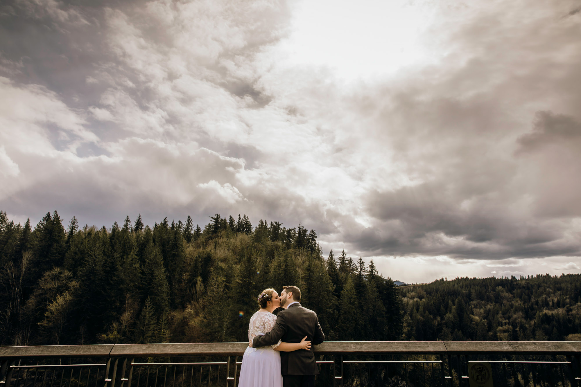
[[[246,341],[260,291],[297,285],[328,341],[581,341],[581,274],[400,286],[247,216],[33,226],[0,212],[0,346]]]

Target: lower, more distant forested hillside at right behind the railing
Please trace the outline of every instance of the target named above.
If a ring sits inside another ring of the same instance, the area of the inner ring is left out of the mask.
[[[404,286],[404,340],[581,341],[581,274]]]

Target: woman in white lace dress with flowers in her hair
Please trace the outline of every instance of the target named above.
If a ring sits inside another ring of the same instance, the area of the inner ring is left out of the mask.
[[[253,336],[270,332],[277,316],[272,311],[281,305],[277,291],[266,289],[258,297],[260,309],[250,317],[248,325],[248,341]],[[282,387],[281,356],[276,351],[291,352],[298,349],[310,350],[311,342],[304,336],[300,343],[285,343],[279,341],[268,347],[246,348],[242,357],[238,387]]]

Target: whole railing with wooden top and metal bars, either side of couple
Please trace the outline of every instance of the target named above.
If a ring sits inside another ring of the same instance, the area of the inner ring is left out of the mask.
[[[5,387],[236,386],[246,343],[0,347]],[[469,386],[488,363],[494,386],[580,387],[581,342],[325,342],[317,386]]]

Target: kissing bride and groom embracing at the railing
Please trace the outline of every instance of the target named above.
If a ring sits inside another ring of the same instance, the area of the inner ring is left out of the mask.
[[[258,305],[248,325],[238,387],[314,387],[319,369],[311,341],[325,341],[317,313],[300,304],[296,286],[282,286],[280,296],[266,289]],[[275,316],[279,306],[285,309]]]

